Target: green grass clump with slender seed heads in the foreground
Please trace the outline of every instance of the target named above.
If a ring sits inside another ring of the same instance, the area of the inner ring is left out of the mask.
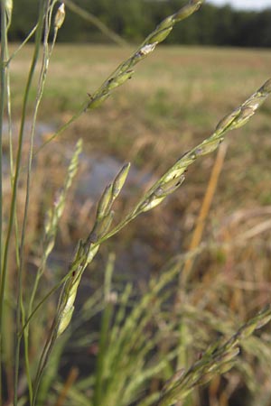
[[[210,281],[209,285],[196,279],[192,281],[193,261],[203,252],[230,249],[230,245],[244,244],[250,238],[250,235],[243,235],[229,244],[201,242],[202,224],[225,160],[225,151],[221,150],[220,144],[231,130],[246,125],[266,101],[271,93],[271,79],[222,118],[212,134],[173,162],[135,205],[127,208],[120,220],[114,223],[113,208],[131,166],[130,163],[124,164],[98,199],[93,226],[89,227],[88,235],[80,236],[73,254],[70,254],[69,265],[52,274],[49,272],[50,255],[55,248],[61,217],[78,171],[79,154],[82,152],[79,140],[70,157],[63,186],[51,206],[36,215],[37,230],[36,235],[32,235],[33,206],[35,198],[38,198],[33,193],[33,187],[39,180],[38,162],[46,150],[45,145],[49,144],[49,147],[81,115],[90,115],[91,110],[101,106],[117,88],[133,78],[137,63],[154,52],[174,25],[196,12],[202,3],[203,0],[191,0],[165,18],[135,52],[86,98],[79,110],[36,147],[44,88],[58,32],[65,20],[65,7],[57,0],[41,0],[33,30],[10,53],[8,30],[12,24],[13,1],[1,2],[0,399],[3,405],[189,405],[197,404],[201,395],[197,391],[198,386],[207,383],[219,386],[218,377],[227,374],[233,365],[238,374],[244,376],[253,393],[257,393],[258,388],[251,365],[260,365],[261,374],[271,372],[270,334],[267,328],[262,336],[257,333],[271,319],[270,305],[258,309],[257,314],[249,315],[245,321],[234,317],[230,307],[227,311],[223,308],[226,316],[221,321],[210,303],[198,306],[192,300],[193,290],[199,290],[203,297],[206,291],[213,295],[222,286],[218,279],[213,284]],[[83,18],[90,18],[70,0],[67,5]],[[107,33],[110,34],[109,31]],[[121,41],[115,38],[117,42]],[[16,134],[11,71],[14,60],[30,40],[33,40],[33,56],[25,80]],[[33,94],[34,105],[31,101]],[[30,130],[27,126],[29,122]],[[8,128],[8,148],[4,140],[5,124]],[[216,150],[220,152],[213,166],[190,250],[173,257],[159,275],[153,275],[141,297],[132,282],[127,282],[125,287],[123,284],[115,286],[115,255],[109,254],[102,288],[84,301],[74,317],[83,274],[90,269],[89,265],[101,245],[136,217],[144,216],[145,212],[153,210],[176,192],[185,180],[187,169]],[[3,151],[8,151],[9,158],[8,187]],[[41,199],[46,201],[45,188],[41,193]],[[29,258],[36,252],[37,245],[39,255],[31,263]],[[79,327],[87,323],[95,325],[97,318],[100,321],[98,333],[91,334],[86,329],[86,334],[80,337]],[[74,367],[68,368],[69,374],[60,371],[70,346],[90,348],[91,354],[95,355],[91,374],[79,376],[79,370]],[[244,357],[243,353],[248,357]],[[228,388],[226,384],[224,386]],[[270,393],[270,387],[263,389],[266,396],[268,391]],[[223,384],[218,392],[223,393]],[[223,404],[227,401],[224,400]],[[263,400],[261,404],[266,403]]]

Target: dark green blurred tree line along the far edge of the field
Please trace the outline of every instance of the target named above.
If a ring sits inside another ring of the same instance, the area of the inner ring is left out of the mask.
[[[182,0],[73,0],[96,15],[129,42],[140,42],[154,26],[187,1]],[[32,28],[38,2],[14,1],[12,41],[22,41]],[[66,20],[59,33],[62,42],[108,42],[98,29],[66,8]],[[166,40],[171,44],[271,46],[271,8],[262,12],[237,11],[229,5],[206,3],[201,11],[175,26]]]

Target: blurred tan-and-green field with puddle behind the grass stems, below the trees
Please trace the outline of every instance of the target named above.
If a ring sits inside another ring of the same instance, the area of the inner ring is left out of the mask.
[[[11,51],[15,47],[13,44]],[[91,95],[134,49],[132,45],[57,44],[42,100],[35,147],[50,139],[87,95]],[[32,45],[25,46],[11,66],[14,129],[18,125],[32,51]],[[98,197],[124,162],[131,161],[132,170],[117,202],[117,219],[133,205],[142,190],[184,152],[211,134],[224,115],[257,90],[269,78],[270,66],[268,48],[159,46],[136,67],[135,76],[117,89],[103,106],[86,112],[35,156],[25,244],[29,269],[34,270],[39,263],[42,218],[61,189],[74,142],[79,137],[84,142],[79,174],[68,197],[56,248],[46,272],[45,285],[49,286],[67,268],[78,239],[88,235]],[[34,104],[34,93],[32,102]],[[233,326],[238,328],[270,301],[270,115],[269,100],[248,125],[227,135],[225,156],[215,152],[196,161],[186,173],[181,189],[158,208],[136,218],[102,246],[80,287],[77,309],[83,306],[90,292],[94,295],[100,289],[110,253],[116,257],[112,291],[121,298],[127,283],[133,285],[133,298],[127,309],[132,304],[137,306],[152,278],[176,263],[179,272],[167,288],[170,295],[163,311],[171,314],[181,294],[184,309],[181,314],[187,323],[184,323],[185,340],[179,362],[187,366],[212,339],[229,335]],[[27,146],[26,134],[25,160]],[[7,142],[5,148],[7,150]],[[221,166],[217,184],[213,178],[210,180],[216,161]],[[8,181],[5,181],[6,201]],[[22,202],[23,182],[19,197]],[[210,207],[204,211],[202,202],[208,185],[214,188],[214,195],[210,197]],[[197,240],[195,230],[199,234],[201,226],[202,235]],[[199,249],[199,253],[192,263],[186,260],[183,265],[180,255],[191,249]],[[187,271],[184,278],[183,269]],[[119,302],[116,309],[118,306]],[[167,317],[169,324],[178,324],[178,311],[173,312],[172,320]],[[82,317],[82,326],[70,339],[60,363],[60,375],[53,385],[55,393],[64,393],[67,387],[70,390],[68,381],[73,375],[74,382],[81,383],[81,392],[86,389],[83,383],[87,383],[86,376],[93,373],[99,325],[97,315],[87,324],[83,324]],[[145,328],[149,331],[152,327],[146,325]],[[155,352],[161,356],[167,352],[167,346],[173,346],[176,337],[172,333],[169,336],[170,344],[158,343],[152,348],[152,356]],[[256,338],[255,342],[248,343],[247,351],[246,354],[244,346],[243,361],[233,372],[212,380],[184,404],[270,406],[270,330],[266,328],[262,346]],[[162,375],[152,378],[145,392],[155,392],[164,377],[171,375],[171,368],[174,366],[169,362]],[[79,392],[74,383],[74,390],[70,390],[64,403],[57,403],[55,399],[60,398],[53,393],[51,399],[55,402],[48,404],[85,404],[83,398],[79,400]],[[86,399],[88,396],[87,391]],[[100,404],[111,405],[117,403]]]

